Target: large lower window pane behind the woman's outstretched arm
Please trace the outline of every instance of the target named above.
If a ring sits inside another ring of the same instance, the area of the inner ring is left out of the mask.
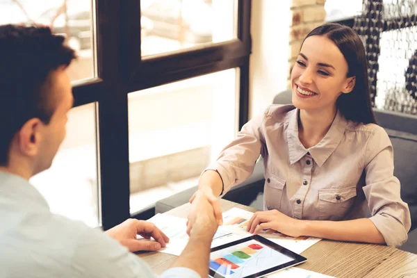
[[[197,186],[234,139],[238,69],[129,94],[131,213]]]

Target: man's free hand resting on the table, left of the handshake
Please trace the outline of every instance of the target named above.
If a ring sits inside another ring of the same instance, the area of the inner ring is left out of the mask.
[[[129,248],[130,252],[160,250],[170,241],[154,224],[136,219],[128,219],[106,231],[106,234]],[[136,235],[140,235],[147,240],[138,240]],[[150,240],[151,238],[154,238],[155,241]]]

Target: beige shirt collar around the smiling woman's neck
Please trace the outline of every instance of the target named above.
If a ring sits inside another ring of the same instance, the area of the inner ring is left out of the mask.
[[[298,113],[299,109],[291,111],[291,115],[288,118],[288,131],[287,131],[287,140],[289,148],[289,156],[291,165],[299,161],[303,156],[310,152],[314,161],[316,161],[318,167],[327,161],[327,158],[333,154],[336,147],[341,142],[343,135],[345,134],[345,129],[347,126],[347,121],[341,115],[340,111],[336,113],[336,117],[330,126],[329,131],[327,131],[325,137],[318,142],[316,146],[313,146],[309,149],[306,149],[300,142],[298,138]]]

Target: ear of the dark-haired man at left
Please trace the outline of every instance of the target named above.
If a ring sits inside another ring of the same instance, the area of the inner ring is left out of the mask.
[[[42,140],[42,121],[33,118],[25,122],[17,133],[17,146],[20,152],[26,156],[36,156],[39,152],[39,145]]]

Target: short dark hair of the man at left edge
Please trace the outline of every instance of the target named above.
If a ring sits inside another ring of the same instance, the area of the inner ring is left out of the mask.
[[[0,165],[25,122],[49,124],[56,109],[49,74],[76,58],[64,41],[48,27],[0,26]]]

